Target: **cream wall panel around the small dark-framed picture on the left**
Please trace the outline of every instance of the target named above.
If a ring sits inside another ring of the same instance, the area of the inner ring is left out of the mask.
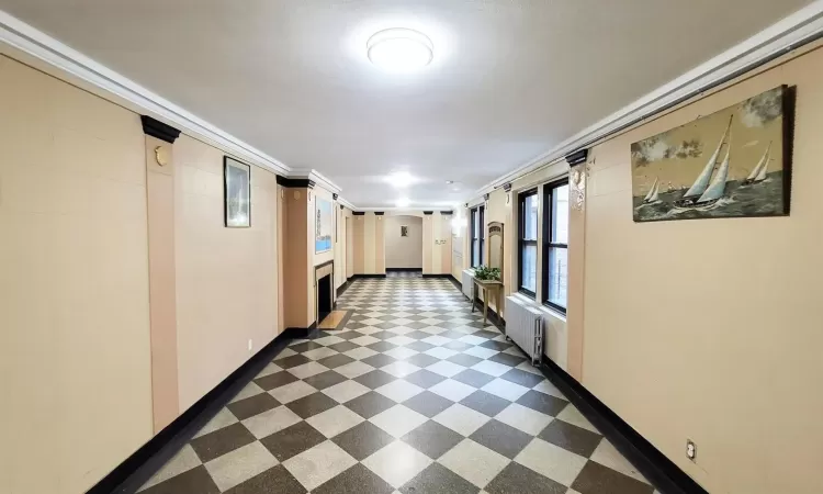
[[[185,135],[174,143],[181,411],[282,330],[277,177],[251,167],[251,227],[226,228],[223,156]]]

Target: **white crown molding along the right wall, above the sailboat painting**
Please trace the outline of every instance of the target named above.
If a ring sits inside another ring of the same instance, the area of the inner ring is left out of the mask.
[[[816,0],[754,36],[661,86],[515,170],[477,189],[474,198],[562,160],[566,155],[680,104],[823,36],[823,0]]]

